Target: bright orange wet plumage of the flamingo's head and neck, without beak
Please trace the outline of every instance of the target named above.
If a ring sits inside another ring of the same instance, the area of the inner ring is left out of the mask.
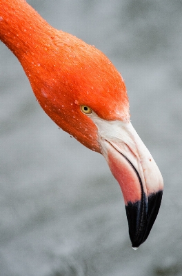
[[[128,96],[117,69],[94,46],[52,28],[26,1],[1,0],[0,10],[0,39],[21,62],[43,110],[100,152],[97,128],[80,105],[102,119],[129,121]]]

